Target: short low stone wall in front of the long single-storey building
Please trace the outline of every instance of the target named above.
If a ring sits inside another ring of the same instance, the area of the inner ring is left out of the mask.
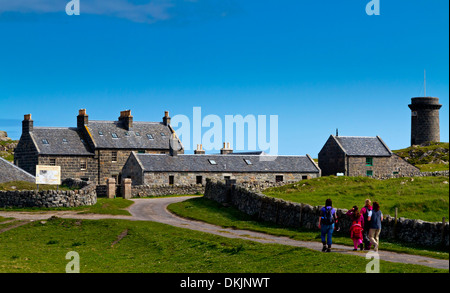
[[[131,186],[132,197],[163,196],[175,194],[203,194],[205,186],[201,184],[192,185],[134,185]]]

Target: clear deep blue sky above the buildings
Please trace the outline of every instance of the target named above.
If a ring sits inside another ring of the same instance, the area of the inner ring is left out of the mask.
[[[449,141],[444,0],[0,0],[0,129],[115,120],[278,115],[278,153],[317,157],[326,139],[409,146],[412,97],[440,99]],[[204,128],[203,131],[207,131]],[[191,139],[192,140],[192,139]]]

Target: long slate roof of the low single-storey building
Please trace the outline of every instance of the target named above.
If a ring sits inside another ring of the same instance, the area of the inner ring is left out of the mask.
[[[144,172],[259,172],[319,173],[307,156],[139,154],[133,152]],[[250,160],[248,165],[244,159]],[[213,165],[209,160],[214,160]]]

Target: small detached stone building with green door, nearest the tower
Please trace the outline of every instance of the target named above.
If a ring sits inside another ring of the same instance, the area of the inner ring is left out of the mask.
[[[394,154],[379,137],[331,135],[319,152],[323,176],[412,176],[420,170]]]

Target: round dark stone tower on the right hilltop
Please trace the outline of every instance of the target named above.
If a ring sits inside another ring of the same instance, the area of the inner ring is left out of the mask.
[[[411,145],[422,144],[427,141],[439,142],[439,104],[438,98],[412,98],[411,104]]]

